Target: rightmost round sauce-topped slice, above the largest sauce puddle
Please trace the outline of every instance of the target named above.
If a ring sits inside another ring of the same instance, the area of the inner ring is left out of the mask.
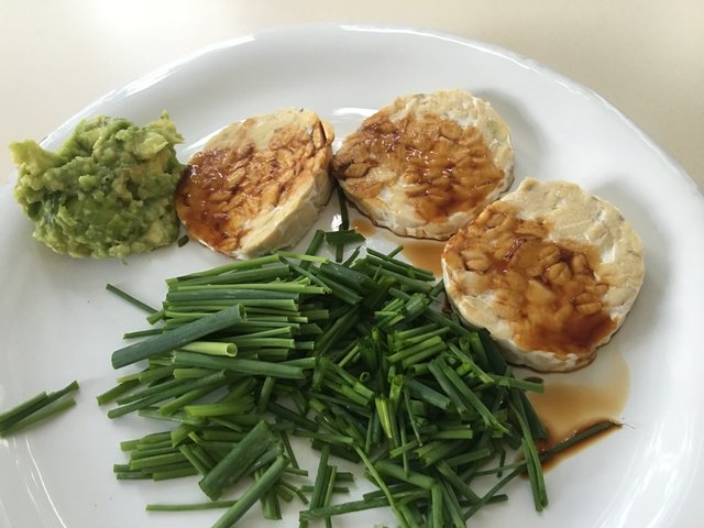
[[[642,243],[610,204],[566,182],[526,179],[450,239],[451,302],[507,359],[538,371],[588,364],[645,276]]]

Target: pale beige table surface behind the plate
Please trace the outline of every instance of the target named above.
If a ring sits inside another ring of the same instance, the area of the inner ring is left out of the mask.
[[[503,46],[609,101],[704,189],[701,0],[23,0],[0,8],[0,144],[208,45],[309,22],[415,25]],[[0,182],[13,170],[0,156]]]

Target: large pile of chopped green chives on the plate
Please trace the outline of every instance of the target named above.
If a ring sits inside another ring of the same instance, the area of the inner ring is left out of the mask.
[[[199,475],[201,502],[147,509],[224,508],[215,528],[257,502],[280,519],[279,501],[295,498],[300,527],[377,507],[402,527],[464,527],[505,501],[519,474],[536,509],[546,507],[541,462],[568,444],[536,447],[546,431],[525,393],[542,385],[516,378],[486,333],[438,309],[442,282],[396,258],[400,248],[363,256],[356,248],[344,262],[337,251],[334,262],[317,256],[326,241],[337,250],[358,240],[318,231],[305,254],[167,279],[158,310],[122,294],[154,327],[125,334],[145,339],[116,351],[112,365],[146,365],[98,402],[117,404],[110,418],[173,426],[123,442],[129,462],[116,464],[117,477]],[[301,482],[292,437],[319,452],[312,485]],[[352,475],[336,458],[362,464],[378,491],[341,502]],[[240,497],[222,499],[248,479]]]

